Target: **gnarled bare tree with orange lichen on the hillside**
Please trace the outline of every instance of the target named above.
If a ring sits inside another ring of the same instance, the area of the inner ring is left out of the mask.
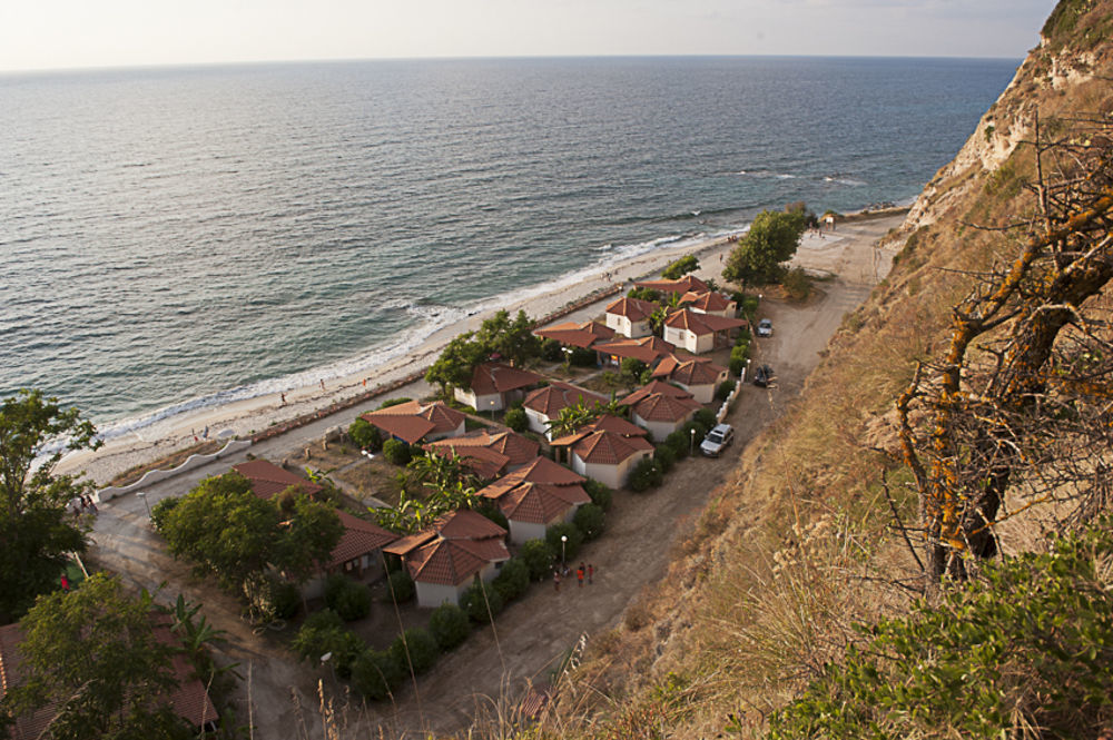
[[[1071,128],[1046,141],[1036,122],[1030,197],[992,231],[1016,257],[975,276],[946,355],[897,401],[929,588],[994,556],[1009,509],[1073,501],[1086,515],[1109,499],[1113,342],[1097,297],[1113,279],[1113,125]],[[1006,179],[1022,191],[1009,161],[983,197],[1007,194]]]

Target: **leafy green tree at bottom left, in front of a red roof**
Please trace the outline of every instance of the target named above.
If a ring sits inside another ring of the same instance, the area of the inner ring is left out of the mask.
[[[51,708],[58,740],[183,737],[169,706],[175,648],[152,631],[152,610],[149,593],[132,598],[104,573],[41,596],[21,621],[26,680],[2,708],[13,717]]]

